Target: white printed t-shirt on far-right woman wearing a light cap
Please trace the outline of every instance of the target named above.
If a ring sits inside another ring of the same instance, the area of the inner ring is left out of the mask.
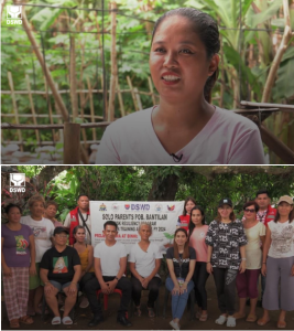
[[[294,221],[291,223],[271,221],[268,226],[272,238],[268,255],[274,258],[294,256]]]

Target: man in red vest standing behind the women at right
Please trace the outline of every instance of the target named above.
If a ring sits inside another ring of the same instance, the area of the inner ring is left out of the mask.
[[[259,211],[257,213],[257,220],[262,222],[266,227],[268,223],[273,221],[276,214],[276,209],[271,206],[271,197],[266,190],[260,190],[257,192],[255,202],[259,205]],[[262,298],[265,290],[265,276],[261,274],[261,300],[259,306],[262,307]]]

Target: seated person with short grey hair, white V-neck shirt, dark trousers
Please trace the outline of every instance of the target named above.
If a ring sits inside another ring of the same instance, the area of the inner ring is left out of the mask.
[[[157,299],[161,278],[159,273],[162,254],[156,244],[149,241],[152,227],[148,223],[139,226],[141,241],[132,247],[129,255],[130,270],[132,273],[132,298],[137,308],[137,314],[141,316],[141,291],[150,290],[148,300],[149,317],[155,317],[154,302]]]

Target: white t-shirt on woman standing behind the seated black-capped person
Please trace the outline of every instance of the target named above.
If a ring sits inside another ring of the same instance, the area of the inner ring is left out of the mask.
[[[30,226],[35,238],[35,261],[40,263],[44,253],[52,247],[51,237],[54,232],[54,224],[47,220],[34,221],[30,215],[22,216],[21,223]]]

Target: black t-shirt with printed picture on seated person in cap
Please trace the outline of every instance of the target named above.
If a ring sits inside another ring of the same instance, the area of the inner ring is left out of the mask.
[[[73,280],[74,266],[77,265],[80,265],[80,259],[75,248],[66,246],[63,252],[58,252],[55,247],[52,247],[43,255],[40,268],[48,270],[48,280],[66,284]]]

